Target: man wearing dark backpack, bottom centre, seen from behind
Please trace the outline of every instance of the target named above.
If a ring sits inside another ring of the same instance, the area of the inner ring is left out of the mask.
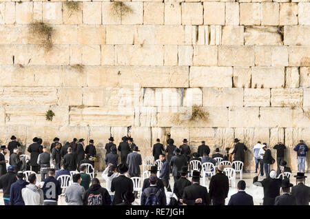
[[[150,186],[141,195],[141,205],[167,205],[164,189],[156,187],[156,176],[149,177]]]

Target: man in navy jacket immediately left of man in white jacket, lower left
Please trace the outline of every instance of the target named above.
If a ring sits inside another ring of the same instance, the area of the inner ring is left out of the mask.
[[[25,188],[29,183],[23,180],[23,171],[17,172],[17,181],[11,185],[10,189],[10,205],[25,205],[21,196],[21,189]]]

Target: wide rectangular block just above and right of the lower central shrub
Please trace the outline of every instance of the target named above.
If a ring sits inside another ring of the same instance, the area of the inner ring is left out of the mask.
[[[242,88],[203,88],[203,106],[242,107]]]

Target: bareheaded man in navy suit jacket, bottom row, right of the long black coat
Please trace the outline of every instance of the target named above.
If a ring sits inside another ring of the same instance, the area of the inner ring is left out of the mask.
[[[254,205],[253,197],[245,192],[245,181],[238,182],[238,192],[230,197],[228,205]]]

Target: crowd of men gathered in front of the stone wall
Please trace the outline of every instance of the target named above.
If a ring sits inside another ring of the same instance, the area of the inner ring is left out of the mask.
[[[94,140],[84,149],[84,139],[74,138],[71,143],[65,145],[59,143],[59,138],[54,138],[50,149],[43,147],[41,138],[33,138],[33,143],[28,147],[30,160],[25,160],[19,152],[20,143],[16,137],[11,137],[11,142],[1,146],[0,153],[0,189],[3,189],[3,201],[5,205],[57,205],[59,196],[64,194],[68,205],[132,205],[138,198],[138,191],[134,191],[132,177],[141,176],[142,157],[140,150],[133,142],[133,138],[124,136],[118,147],[114,144],[114,138],[110,137],[109,143],[105,145],[106,168],[102,178],[105,180],[105,188],[101,187],[98,178],[87,174],[85,163],[94,167],[94,161],[90,158],[96,157]],[[214,154],[209,156],[210,148],[202,142],[197,152],[192,153],[191,147],[183,140],[183,145],[176,147],[174,140],[167,140],[167,147],[157,139],[153,146],[154,160],[161,160],[161,169],[158,173],[156,165],[150,167],[149,178],[143,181],[141,191],[141,205],[225,205],[225,198],[229,192],[229,179],[224,173],[225,166],[217,165],[215,158],[229,160],[229,154],[234,155],[234,160],[245,163],[245,151],[247,147],[240,143],[238,138],[234,139],[234,149],[231,153],[220,154],[216,148]],[[10,151],[9,161],[5,159],[7,149]],[[309,205],[310,187],[305,185],[304,162],[308,147],[300,140],[294,151],[298,154],[298,174],[296,186],[289,182],[285,172],[291,171],[286,167],[284,160],[285,145],[278,143],[273,147],[277,150],[277,171],[271,170],[270,165],[276,160],[271,156],[271,150],[267,144],[258,142],[254,146],[254,159],[256,162],[256,173],[254,185],[263,187],[263,205]],[[120,152],[120,159],[118,153]],[[191,156],[192,154],[192,156]],[[120,164],[118,161],[121,160]],[[190,162],[199,160],[203,163],[213,163],[216,174],[210,177],[209,188],[200,185],[202,176],[201,165],[193,169]],[[6,163],[9,162],[8,168]],[[23,171],[29,169],[36,174],[30,174],[27,178]],[[79,174],[72,175],[72,184],[65,189],[61,187],[59,176],[68,175],[70,171]],[[258,180],[263,176],[265,169],[266,178]],[[192,170],[192,180],[189,173]],[[37,173],[41,174],[41,182],[37,182]],[[170,186],[170,174],[174,178],[174,187]],[[278,177],[282,174],[281,177]],[[96,176],[96,175],[94,175]],[[291,188],[292,187],[292,188]],[[244,180],[238,182],[238,192],[231,196],[228,205],[254,205],[253,197],[245,192]],[[280,194],[281,191],[281,194]]]

